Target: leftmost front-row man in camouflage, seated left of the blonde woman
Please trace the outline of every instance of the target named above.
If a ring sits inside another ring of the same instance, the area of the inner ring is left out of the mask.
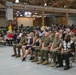
[[[19,44],[13,44],[14,54],[12,55],[12,57],[13,56],[16,56],[16,57],[20,57],[21,56],[20,55],[20,49],[21,49],[22,45],[26,44],[26,41],[27,41],[27,38],[25,36],[25,33],[23,32],[22,36],[21,36],[20,43]],[[17,54],[16,48],[18,48],[18,54]]]

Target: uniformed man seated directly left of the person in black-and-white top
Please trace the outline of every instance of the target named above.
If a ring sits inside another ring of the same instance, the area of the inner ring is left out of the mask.
[[[55,39],[50,48],[50,52],[53,56],[53,62],[51,63],[51,67],[56,66],[56,54],[61,50],[62,40],[60,39],[60,34],[58,32],[55,33]]]

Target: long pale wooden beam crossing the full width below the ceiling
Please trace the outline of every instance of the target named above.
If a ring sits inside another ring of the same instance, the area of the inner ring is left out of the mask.
[[[0,8],[6,8],[5,6],[0,6]],[[54,8],[54,7],[44,7],[44,6],[33,6],[33,5],[23,5],[23,4],[13,4],[13,9],[22,10],[44,10],[48,12],[59,12],[59,13],[76,13],[75,9],[65,9],[65,8]]]

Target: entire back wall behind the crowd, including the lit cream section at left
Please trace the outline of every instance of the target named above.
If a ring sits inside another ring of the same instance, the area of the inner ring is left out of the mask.
[[[66,18],[65,17],[47,17],[45,18],[45,25],[50,26],[51,24],[66,24]],[[42,19],[41,18],[18,18],[18,25],[23,24],[24,26],[41,26]],[[75,16],[69,16],[68,18],[68,24],[76,24],[76,17]],[[5,18],[0,18],[0,26],[7,26],[7,20]]]

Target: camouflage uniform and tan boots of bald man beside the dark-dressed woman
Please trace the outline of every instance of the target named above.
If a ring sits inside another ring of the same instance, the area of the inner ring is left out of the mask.
[[[43,44],[44,44],[44,48],[42,48],[41,51],[40,51],[41,59],[38,61],[37,64],[43,63],[43,65],[45,65],[47,63],[43,62],[43,57],[45,57],[46,60],[48,61],[48,52],[49,52],[48,46],[50,44],[50,38],[49,37],[45,37],[44,41],[43,41]]]

